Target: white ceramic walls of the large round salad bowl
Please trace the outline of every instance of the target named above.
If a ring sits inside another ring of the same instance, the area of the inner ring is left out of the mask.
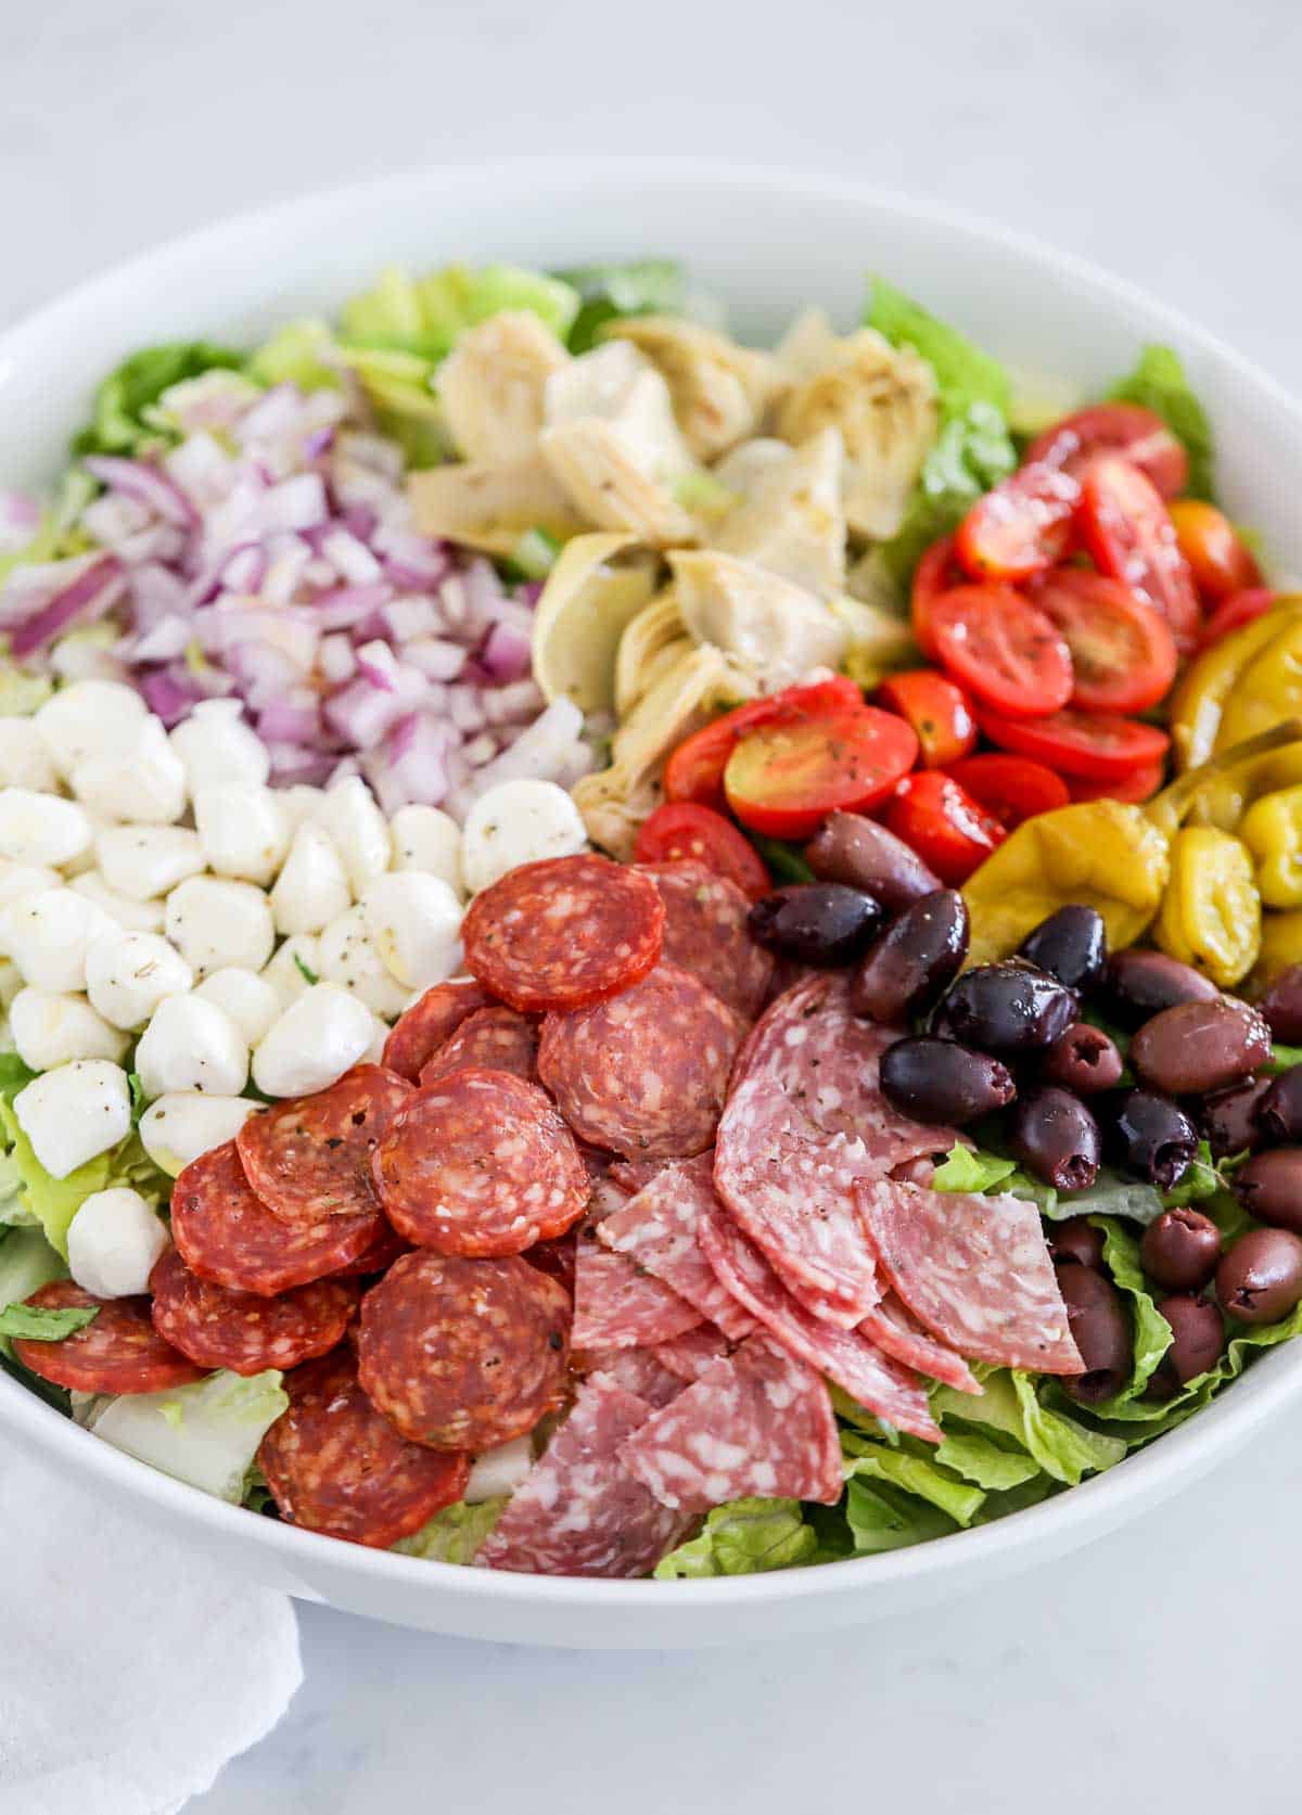
[[[1211,336],[1102,272],[979,221],[844,182],[685,162],[432,171],[278,205],[109,272],[0,339],[0,483],[51,479],[94,381],[123,354],[200,334],[254,341],[329,312],[389,261],[525,265],[666,254],[743,334],[806,303],[857,318],[881,270],[1021,368],[1097,388],[1171,341],[1217,427],[1229,508],[1275,570],[1302,572],[1302,410]],[[590,1583],[419,1563],[207,1499],[78,1430],[0,1376],[0,1425],[76,1492],[111,1496],[200,1554],[305,1599],[434,1632],[570,1646],[723,1644],[866,1621],[1100,1537],[1211,1468],[1302,1392],[1302,1343],[1119,1468],[1030,1512],[915,1550],[701,1583]]]

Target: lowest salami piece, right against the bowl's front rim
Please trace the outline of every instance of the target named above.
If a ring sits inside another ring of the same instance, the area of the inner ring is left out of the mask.
[[[574,1408],[485,1539],[476,1565],[532,1575],[648,1575],[690,1519],[619,1461],[652,1407],[614,1379],[579,1387]]]

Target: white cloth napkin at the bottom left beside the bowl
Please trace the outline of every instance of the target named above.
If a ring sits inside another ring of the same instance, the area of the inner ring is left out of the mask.
[[[178,1815],[303,1679],[291,1601],[0,1454],[0,1815]]]

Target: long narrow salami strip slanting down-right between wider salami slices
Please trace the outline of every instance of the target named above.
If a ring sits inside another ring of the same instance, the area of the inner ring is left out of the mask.
[[[826,1374],[884,1423],[928,1443],[941,1441],[917,1374],[892,1361],[859,1330],[843,1330],[812,1316],[717,1200],[701,1216],[701,1247],[719,1283],[764,1325],[774,1341]]]

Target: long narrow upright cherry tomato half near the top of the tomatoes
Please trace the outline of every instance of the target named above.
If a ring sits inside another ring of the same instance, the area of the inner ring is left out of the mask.
[[[1202,624],[1198,594],[1153,481],[1111,454],[1090,461],[1080,476],[1077,525],[1099,572],[1124,579],[1155,604],[1177,650],[1191,650]]]

